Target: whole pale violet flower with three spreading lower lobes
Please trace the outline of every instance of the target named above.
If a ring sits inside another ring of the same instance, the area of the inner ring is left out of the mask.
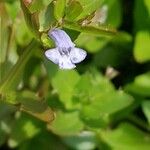
[[[45,52],[46,57],[53,63],[58,64],[60,69],[73,69],[75,64],[85,59],[87,53],[76,48],[67,33],[61,29],[53,29],[48,33],[55,42],[56,48]]]

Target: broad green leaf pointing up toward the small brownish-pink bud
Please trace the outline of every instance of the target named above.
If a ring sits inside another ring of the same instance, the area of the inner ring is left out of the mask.
[[[92,70],[89,73],[83,74],[75,86],[74,101],[89,103],[93,102],[101,94],[113,92],[114,86],[98,71]]]

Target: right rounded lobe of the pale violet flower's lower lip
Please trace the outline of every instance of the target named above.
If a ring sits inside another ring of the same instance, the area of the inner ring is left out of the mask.
[[[86,51],[80,48],[73,48],[70,51],[70,59],[72,63],[79,63],[87,56]]]

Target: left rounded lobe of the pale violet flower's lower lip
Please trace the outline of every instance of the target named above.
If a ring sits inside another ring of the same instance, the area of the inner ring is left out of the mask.
[[[55,64],[59,64],[61,55],[58,51],[58,48],[49,49],[45,52],[45,56]]]

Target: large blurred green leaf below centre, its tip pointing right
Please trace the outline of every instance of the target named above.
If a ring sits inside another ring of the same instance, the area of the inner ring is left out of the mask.
[[[115,113],[127,108],[132,102],[133,98],[122,91],[111,94],[103,92],[90,104],[82,106],[81,116],[90,127],[105,127]]]

